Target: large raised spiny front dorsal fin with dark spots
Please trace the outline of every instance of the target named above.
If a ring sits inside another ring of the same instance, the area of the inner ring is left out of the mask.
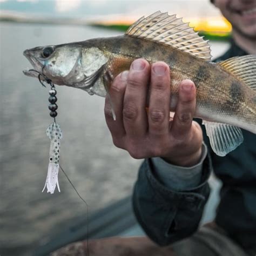
[[[143,16],[130,26],[125,35],[168,44],[205,60],[212,57],[208,41],[198,36],[182,18],[170,16],[167,12],[157,11],[146,18]]]

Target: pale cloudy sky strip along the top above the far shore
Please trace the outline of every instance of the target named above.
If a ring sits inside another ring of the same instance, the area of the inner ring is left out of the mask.
[[[216,17],[210,0],[0,0],[1,13],[86,18],[100,15],[140,17],[155,11],[179,17]]]

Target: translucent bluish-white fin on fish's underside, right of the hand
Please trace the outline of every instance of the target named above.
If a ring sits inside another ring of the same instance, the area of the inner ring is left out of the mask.
[[[229,152],[236,149],[244,140],[239,127],[203,121],[206,134],[210,139],[210,144],[214,153],[224,157]]]

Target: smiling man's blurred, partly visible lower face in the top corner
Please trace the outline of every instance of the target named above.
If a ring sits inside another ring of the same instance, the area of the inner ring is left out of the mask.
[[[256,39],[256,0],[215,0],[233,30],[247,38]]]

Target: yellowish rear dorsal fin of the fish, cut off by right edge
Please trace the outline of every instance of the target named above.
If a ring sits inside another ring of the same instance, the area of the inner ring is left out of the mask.
[[[256,55],[233,57],[218,64],[256,91]]]

